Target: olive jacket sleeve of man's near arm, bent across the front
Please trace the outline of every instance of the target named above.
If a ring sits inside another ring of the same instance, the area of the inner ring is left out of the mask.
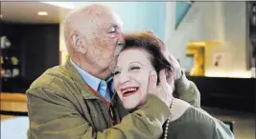
[[[30,118],[29,139],[152,139],[162,134],[170,109],[156,96],[128,114],[119,125],[103,132],[94,130],[72,102],[51,89],[27,91]]]

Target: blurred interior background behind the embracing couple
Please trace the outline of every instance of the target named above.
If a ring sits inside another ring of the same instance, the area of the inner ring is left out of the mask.
[[[1,139],[25,139],[25,95],[46,69],[67,58],[62,21],[89,2],[1,2]],[[201,93],[201,106],[255,138],[256,2],[99,2],[124,31],[152,30]],[[13,133],[15,129],[16,133]]]

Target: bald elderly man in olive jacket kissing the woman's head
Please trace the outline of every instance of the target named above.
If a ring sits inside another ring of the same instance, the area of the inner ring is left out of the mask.
[[[96,4],[66,18],[64,36],[70,59],[64,66],[46,70],[27,90],[29,139],[143,139],[161,135],[162,125],[171,115],[168,90],[162,89],[157,96],[149,94],[144,107],[128,114],[111,88],[111,63],[124,45],[121,28],[113,10]],[[198,105],[194,84],[180,73],[177,76],[180,97]]]

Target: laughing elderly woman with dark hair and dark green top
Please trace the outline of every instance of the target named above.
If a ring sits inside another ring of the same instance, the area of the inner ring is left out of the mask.
[[[117,57],[114,69],[114,86],[126,109],[131,111],[145,104],[151,70],[157,75],[174,74],[165,49],[162,41],[152,33],[134,33],[127,37],[126,46]],[[170,110],[172,116],[164,124],[160,138],[234,138],[230,129],[220,120],[185,101],[173,97]]]

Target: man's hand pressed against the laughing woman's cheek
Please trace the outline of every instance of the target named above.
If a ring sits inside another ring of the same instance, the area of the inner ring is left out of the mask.
[[[156,95],[168,107],[170,107],[173,98],[173,88],[167,83],[165,69],[159,72],[159,85],[156,86],[157,75],[155,70],[151,70],[148,93]]]

